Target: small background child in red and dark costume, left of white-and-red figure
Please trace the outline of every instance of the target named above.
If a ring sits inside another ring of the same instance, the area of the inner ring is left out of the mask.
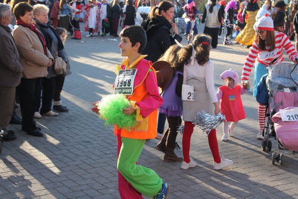
[[[71,39],[75,40],[81,40],[81,31],[80,31],[80,15],[83,11],[82,5],[80,1],[73,0],[71,3],[71,8],[75,12],[75,16],[72,16],[72,26],[75,29],[75,37],[72,37]]]

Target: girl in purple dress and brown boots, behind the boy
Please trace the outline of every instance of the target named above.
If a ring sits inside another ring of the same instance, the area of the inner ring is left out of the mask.
[[[165,76],[167,75],[171,76],[171,81],[169,82],[168,86],[166,86],[162,94],[163,104],[159,108],[159,112],[166,115],[169,127],[166,129],[162,139],[155,148],[165,153],[163,158],[164,161],[170,162],[181,162],[183,160],[182,157],[179,157],[174,153],[177,144],[177,129],[182,122],[181,90],[183,83],[184,62],[179,62],[178,60],[178,52],[180,49],[181,47],[179,47],[178,45],[172,45],[161,56],[161,58],[159,58],[159,61],[166,61],[170,63],[172,70],[169,70],[171,72],[161,72],[164,73],[162,77],[163,79],[165,79]],[[163,68],[166,67],[163,66]]]

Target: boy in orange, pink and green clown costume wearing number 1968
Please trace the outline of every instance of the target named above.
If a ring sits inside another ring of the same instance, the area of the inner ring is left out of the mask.
[[[125,83],[132,89],[131,93],[122,93],[131,102],[131,106],[123,109],[123,113],[131,115],[136,112],[138,123],[132,129],[117,126],[114,129],[119,154],[119,193],[121,198],[127,199],[142,198],[142,194],[166,198],[169,184],[163,182],[154,170],[136,164],[146,139],[156,137],[157,109],[163,103],[157,87],[156,72],[151,62],[144,59],[146,55],[141,55],[147,42],[146,33],[139,26],[130,26],[120,32],[120,37],[121,56],[127,58],[121,68],[116,69],[119,70],[117,78],[121,70],[127,70],[125,74],[134,74],[134,78],[130,76],[131,79],[126,79]],[[116,81],[114,90],[117,93],[128,90],[122,90],[119,85],[124,83],[118,85]]]

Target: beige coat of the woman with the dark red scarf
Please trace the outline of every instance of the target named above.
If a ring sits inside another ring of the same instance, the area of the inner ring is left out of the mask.
[[[22,78],[46,77],[49,58],[53,60],[54,58],[48,49],[48,55],[45,55],[43,44],[37,34],[29,28],[17,25],[13,37],[20,53],[21,64],[24,66]]]

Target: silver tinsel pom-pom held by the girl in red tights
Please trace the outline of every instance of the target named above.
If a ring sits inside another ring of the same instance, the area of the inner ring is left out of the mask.
[[[197,116],[194,117],[194,119],[192,120],[192,123],[194,125],[199,126],[199,128],[203,132],[206,132],[208,136],[210,131],[216,128],[224,120],[225,120],[225,116],[222,115],[221,113],[218,113],[217,115],[210,115],[209,113],[202,111],[202,113],[200,112],[197,113]],[[179,128],[177,129],[177,132],[179,134],[183,134],[184,125],[179,126]]]

